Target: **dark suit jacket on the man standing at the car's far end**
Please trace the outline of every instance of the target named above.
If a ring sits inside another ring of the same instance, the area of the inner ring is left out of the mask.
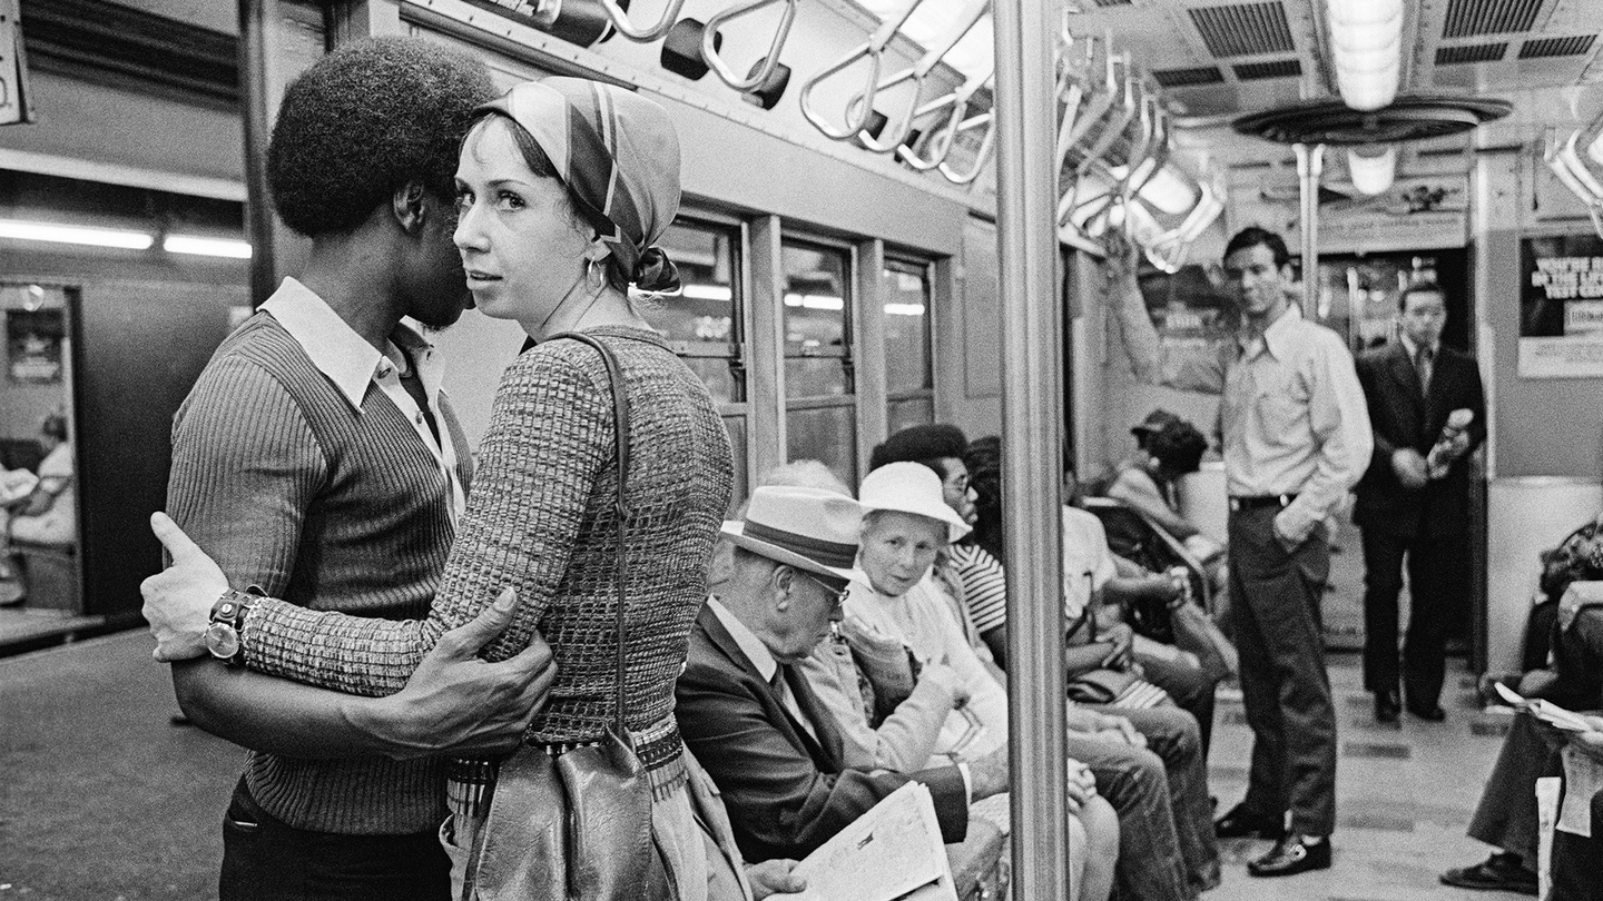
[[[1391,454],[1412,447],[1420,455],[1457,409],[1475,412],[1470,423],[1470,450],[1486,441],[1486,398],[1475,358],[1446,345],[1431,369],[1430,396],[1419,388],[1419,374],[1403,341],[1358,354],[1358,382],[1369,402],[1369,425],[1375,450],[1369,470],[1358,483],[1353,519],[1366,529],[1385,529],[1401,537],[1454,535],[1470,523],[1470,455],[1452,462],[1448,475],[1423,489],[1407,489],[1391,471]]]

